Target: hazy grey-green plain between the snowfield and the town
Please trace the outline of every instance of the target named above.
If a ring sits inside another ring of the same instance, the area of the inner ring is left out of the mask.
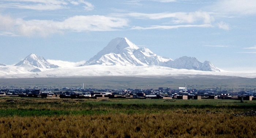
[[[189,89],[205,89],[222,87],[225,89],[256,88],[256,78],[214,76],[214,75],[180,75],[180,76],[94,76],[76,78],[4,78],[0,79],[0,86],[15,87],[82,87],[84,88],[112,88],[112,89],[158,89],[169,87],[177,89],[187,84]]]

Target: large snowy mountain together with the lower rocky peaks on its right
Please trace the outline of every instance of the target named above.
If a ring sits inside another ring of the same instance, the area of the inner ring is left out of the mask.
[[[97,55],[81,66],[86,65],[132,65],[132,66],[166,66],[175,69],[194,69],[217,71],[211,62],[199,62],[194,57],[181,57],[176,60],[154,54],[146,47],[139,48],[127,38],[115,38]]]

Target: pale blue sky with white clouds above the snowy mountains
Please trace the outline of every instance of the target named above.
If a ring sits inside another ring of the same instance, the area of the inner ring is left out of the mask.
[[[1,0],[0,63],[89,60],[112,39],[173,60],[256,69],[256,0]]]

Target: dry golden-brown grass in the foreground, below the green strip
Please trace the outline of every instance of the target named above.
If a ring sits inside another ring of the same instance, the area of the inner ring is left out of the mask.
[[[104,114],[1,117],[1,137],[254,137],[255,116]]]

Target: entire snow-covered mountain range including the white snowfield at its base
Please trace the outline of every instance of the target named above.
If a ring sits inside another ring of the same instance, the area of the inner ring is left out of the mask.
[[[140,48],[127,38],[113,39],[89,61],[79,66],[61,67],[58,63],[52,64],[49,61],[53,60],[45,60],[44,57],[30,54],[14,66],[0,64],[0,77],[165,75],[173,72],[176,74],[178,72],[178,74],[220,72],[209,61],[200,62],[195,57],[187,56],[172,60],[157,55],[146,47]]]

